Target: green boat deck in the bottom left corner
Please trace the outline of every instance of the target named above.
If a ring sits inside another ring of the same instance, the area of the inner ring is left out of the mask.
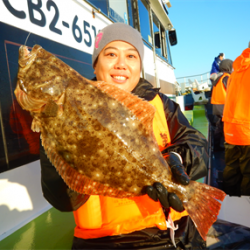
[[[73,213],[51,208],[0,241],[0,249],[70,250],[74,227]]]

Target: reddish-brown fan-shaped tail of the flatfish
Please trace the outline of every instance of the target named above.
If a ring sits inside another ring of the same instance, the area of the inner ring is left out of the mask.
[[[195,181],[190,181],[187,193],[190,197],[187,202],[183,202],[183,206],[203,240],[206,240],[208,230],[220,212],[221,203],[218,200],[223,201],[226,194],[217,188]]]

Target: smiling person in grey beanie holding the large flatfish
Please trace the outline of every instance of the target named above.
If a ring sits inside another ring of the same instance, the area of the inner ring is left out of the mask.
[[[150,102],[156,108],[154,135],[174,177],[183,185],[207,174],[205,137],[190,126],[175,102],[140,77],[144,45],[129,25],[111,24],[95,39],[92,63],[96,78]],[[69,189],[40,148],[44,197],[60,211],[74,211],[72,250],[80,249],[206,249],[193,222],[175,194],[160,183],[144,187],[140,201],[151,211],[143,215],[136,200],[78,194]],[[179,229],[175,248],[166,220]],[[65,225],[66,226],[66,225]]]

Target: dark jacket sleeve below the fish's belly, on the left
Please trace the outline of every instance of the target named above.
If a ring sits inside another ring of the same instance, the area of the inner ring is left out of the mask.
[[[62,212],[75,211],[89,198],[71,190],[50,163],[40,144],[41,184],[44,198]]]

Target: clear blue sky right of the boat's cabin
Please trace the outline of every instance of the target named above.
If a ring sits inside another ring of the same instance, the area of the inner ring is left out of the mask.
[[[171,47],[176,77],[211,70],[215,56],[235,60],[250,41],[250,0],[170,0],[178,44]]]

